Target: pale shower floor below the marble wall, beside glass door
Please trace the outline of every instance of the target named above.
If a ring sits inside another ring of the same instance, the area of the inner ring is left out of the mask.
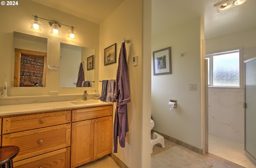
[[[244,155],[244,144],[209,135],[209,153],[220,156],[226,160],[244,166],[256,168],[256,166]]]

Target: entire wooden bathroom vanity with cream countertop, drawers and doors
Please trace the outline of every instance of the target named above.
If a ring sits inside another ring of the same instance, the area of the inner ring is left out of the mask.
[[[1,146],[20,148],[15,168],[75,168],[112,152],[112,111],[100,101],[1,106]]]

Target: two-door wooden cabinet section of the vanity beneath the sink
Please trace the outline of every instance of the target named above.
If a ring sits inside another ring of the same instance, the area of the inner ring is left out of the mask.
[[[112,105],[72,110],[72,168],[112,152],[112,124]]]

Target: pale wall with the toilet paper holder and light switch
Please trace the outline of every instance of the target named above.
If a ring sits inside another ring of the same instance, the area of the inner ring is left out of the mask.
[[[171,47],[172,74],[153,76],[154,130],[202,149],[202,39],[204,20],[197,18],[152,37],[152,52]],[[184,53],[180,57],[180,53]],[[152,65],[153,66],[153,65]],[[153,68],[152,68],[153,69]],[[197,84],[196,91],[189,84]],[[168,110],[168,102],[177,108]]]

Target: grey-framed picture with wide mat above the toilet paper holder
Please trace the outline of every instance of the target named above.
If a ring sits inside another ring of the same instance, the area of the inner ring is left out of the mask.
[[[153,52],[154,75],[171,74],[171,47]]]

